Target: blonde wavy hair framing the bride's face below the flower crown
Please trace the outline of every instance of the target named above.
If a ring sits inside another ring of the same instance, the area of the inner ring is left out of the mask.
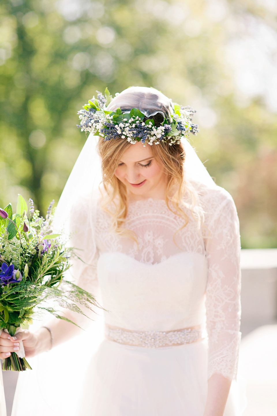
[[[103,172],[101,208],[111,215],[111,228],[118,234],[126,233],[122,225],[128,213],[128,198],[126,186],[115,176],[115,170],[130,146],[135,145],[121,138],[104,141],[103,137],[100,137],[98,141],[98,152],[101,156]],[[160,142],[158,146],[151,146],[151,149],[153,157],[167,176],[165,193],[167,207],[183,218],[184,225],[181,228],[184,228],[189,221],[188,215],[184,212],[184,208],[189,208],[193,218],[198,222],[198,228],[200,228],[203,211],[199,204],[197,191],[184,178],[185,152],[183,146],[181,143],[169,146],[166,142]],[[186,202],[184,201],[185,195]]]

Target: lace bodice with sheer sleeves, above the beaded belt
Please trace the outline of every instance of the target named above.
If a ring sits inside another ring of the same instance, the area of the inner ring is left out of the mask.
[[[112,326],[167,331],[206,324],[208,377],[217,373],[232,379],[240,340],[238,217],[222,188],[201,188],[199,196],[205,215],[200,230],[189,209],[183,227],[184,219],[163,200],[130,203],[124,228],[135,233],[137,242],[111,233],[110,217],[98,207],[93,258],[80,222],[85,211],[78,208],[72,216],[72,244],[83,250],[88,264],[76,261],[73,273],[93,293],[99,284],[109,311],[105,321]]]

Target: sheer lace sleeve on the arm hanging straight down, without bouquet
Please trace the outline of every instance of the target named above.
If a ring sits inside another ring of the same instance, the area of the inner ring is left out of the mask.
[[[212,206],[206,240],[208,378],[221,374],[232,380],[236,377],[241,335],[239,221],[227,193],[221,193],[219,201],[213,198]]]

